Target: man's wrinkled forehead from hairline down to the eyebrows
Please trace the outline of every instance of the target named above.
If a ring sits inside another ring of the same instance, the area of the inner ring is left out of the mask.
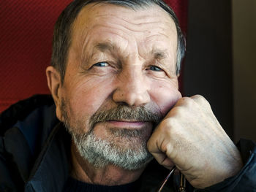
[[[178,47],[176,25],[170,15],[157,5],[139,9],[115,4],[83,7],[73,23],[69,53],[76,55],[78,61],[88,61],[95,55],[97,45],[106,42],[110,42],[108,47],[115,47],[111,53],[118,54],[118,58],[138,56],[149,60],[157,51],[163,53],[166,62],[175,68]]]

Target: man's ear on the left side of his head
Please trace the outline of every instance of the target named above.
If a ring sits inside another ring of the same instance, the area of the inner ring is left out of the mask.
[[[61,120],[61,75],[53,66],[48,66],[46,68],[46,77],[48,88],[56,105],[56,116]]]

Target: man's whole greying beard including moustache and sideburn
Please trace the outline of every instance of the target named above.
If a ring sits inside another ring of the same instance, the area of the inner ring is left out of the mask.
[[[78,153],[97,168],[104,168],[110,164],[122,169],[141,169],[153,158],[146,147],[145,131],[147,128],[110,128],[106,139],[101,139],[94,134],[96,123],[107,120],[132,119],[139,121],[159,123],[160,115],[144,107],[132,109],[127,106],[118,106],[108,111],[96,112],[90,119],[89,131],[79,134],[75,130],[83,130],[84,123],[75,120],[74,127],[70,125],[67,115],[67,106],[64,99],[61,101],[61,112],[64,117],[64,126],[72,136]]]

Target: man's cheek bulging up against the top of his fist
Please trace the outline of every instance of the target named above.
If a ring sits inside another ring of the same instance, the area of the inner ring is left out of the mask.
[[[181,93],[178,91],[178,86],[172,84],[155,85],[151,89],[151,98],[159,107],[162,115],[167,112],[176,104],[178,99],[181,99]]]

